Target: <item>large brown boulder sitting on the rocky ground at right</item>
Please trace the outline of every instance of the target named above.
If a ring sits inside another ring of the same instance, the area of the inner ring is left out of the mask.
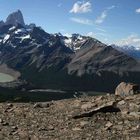
[[[115,95],[125,97],[129,95],[134,95],[138,93],[138,91],[139,91],[139,85],[133,84],[133,83],[122,82],[117,86],[115,90]]]

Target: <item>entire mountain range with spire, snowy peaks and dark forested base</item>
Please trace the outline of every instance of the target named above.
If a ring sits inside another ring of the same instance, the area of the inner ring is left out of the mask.
[[[26,25],[20,10],[0,22],[0,64],[35,88],[109,92],[121,81],[140,83],[137,54],[118,48],[79,34],[49,34]]]

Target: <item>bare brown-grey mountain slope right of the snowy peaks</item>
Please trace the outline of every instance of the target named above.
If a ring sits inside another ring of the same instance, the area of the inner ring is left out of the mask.
[[[101,71],[130,71],[137,65],[133,58],[93,39],[89,39],[82,47],[84,49],[78,51],[68,65],[69,73],[83,75],[100,74]]]

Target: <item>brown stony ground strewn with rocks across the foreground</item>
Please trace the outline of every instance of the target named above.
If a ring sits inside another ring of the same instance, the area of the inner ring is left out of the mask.
[[[1,103],[0,140],[18,139],[140,139],[140,95]]]

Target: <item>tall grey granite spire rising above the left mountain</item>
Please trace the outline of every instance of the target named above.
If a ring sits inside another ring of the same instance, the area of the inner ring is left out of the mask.
[[[20,24],[22,26],[25,26],[21,11],[17,10],[16,12],[11,13],[6,19],[6,24],[12,24],[12,25]]]

